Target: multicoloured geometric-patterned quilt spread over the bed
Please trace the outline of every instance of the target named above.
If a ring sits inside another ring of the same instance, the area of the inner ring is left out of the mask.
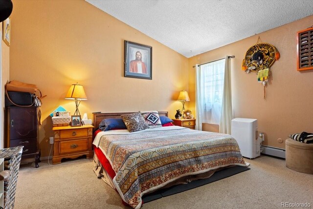
[[[178,126],[101,132],[93,144],[110,161],[114,186],[131,207],[141,207],[143,194],[180,177],[229,165],[248,166],[230,135]]]

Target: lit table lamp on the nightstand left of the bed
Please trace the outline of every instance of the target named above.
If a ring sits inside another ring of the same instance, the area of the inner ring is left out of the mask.
[[[84,91],[84,87],[79,85],[78,83],[72,84],[67,92],[66,99],[74,99],[76,105],[76,111],[74,116],[80,116],[80,112],[78,110],[78,106],[81,100],[87,100],[86,93]]]

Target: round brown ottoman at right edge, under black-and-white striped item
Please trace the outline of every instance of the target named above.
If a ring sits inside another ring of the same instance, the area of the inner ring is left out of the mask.
[[[298,172],[313,174],[313,143],[286,139],[286,166]]]

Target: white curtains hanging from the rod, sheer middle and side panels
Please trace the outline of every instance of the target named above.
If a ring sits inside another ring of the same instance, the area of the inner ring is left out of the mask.
[[[225,59],[210,62],[201,66],[196,65],[197,130],[202,130],[202,123],[220,125],[221,133],[225,133],[225,127],[226,130],[228,130],[228,122],[227,125],[225,125],[225,121],[229,119],[229,114],[226,114],[226,112],[229,112],[229,108],[232,116],[229,70],[228,56],[226,56]],[[227,81],[225,81],[225,79]],[[226,91],[224,92],[225,84]],[[224,105],[224,102],[226,102],[226,105]]]

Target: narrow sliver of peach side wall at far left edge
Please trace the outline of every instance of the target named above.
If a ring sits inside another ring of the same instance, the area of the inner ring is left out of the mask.
[[[10,69],[10,47],[7,46],[2,40],[2,22],[0,23],[1,29],[1,93],[0,93],[0,148],[4,147],[4,85],[9,80],[9,69]]]

